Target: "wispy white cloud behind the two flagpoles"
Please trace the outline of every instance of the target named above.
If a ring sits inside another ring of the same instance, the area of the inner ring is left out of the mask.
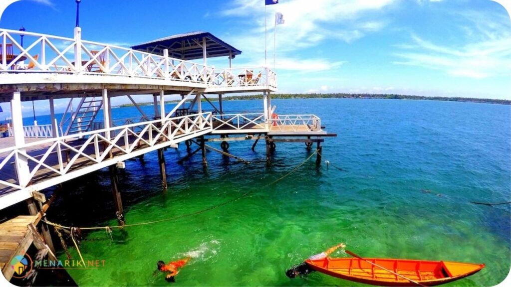
[[[267,7],[267,58],[272,66],[273,56],[273,15],[283,13],[286,22],[277,26],[276,53],[277,68],[298,70],[326,70],[343,63],[323,58],[303,59],[299,52],[309,47],[324,44],[329,40],[342,40],[347,43],[380,31],[387,21],[375,17],[365,17],[366,13],[379,11],[398,0],[288,0]],[[265,7],[260,0],[236,1],[221,12],[224,16],[239,16],[236,21],[238,33],[231,32],[226,38],[234,46],[245,47],[240,60],[258,62],[265,51]],[[249,15],[249,16],[247,16]],[[310,53],[308,53],[310,55]],[[301,59],[300,59],[301,58]],[[260,62],[260,61],[259,61]],[[237,63],[238,64],[238,63]],[[245,64],[245,63],[243,63]],[[264,63],[263,63],[264,65]]]

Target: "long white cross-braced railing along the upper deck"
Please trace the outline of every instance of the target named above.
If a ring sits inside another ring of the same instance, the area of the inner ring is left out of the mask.
[[[207,87],[276,88],[276,74],[268,68],[214,69],[168,57],[167,50],[160,56],[82,40],[79,30],[75,30],[74,38],[66,38],[0,29],[0,49],[0,54],[6,55],[0,60],[0,73],[108,75],[203,83]]]

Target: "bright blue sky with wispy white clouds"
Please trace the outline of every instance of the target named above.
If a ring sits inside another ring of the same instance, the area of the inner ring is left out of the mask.
[[[266,62],[272,69],[275,51],[280,93],[511,100],[511,21],[497,2],[280,0],[270,6],[264,2],[82,0],[82,39],[129,47],[207,31],[243,51],[233,67],[264,66],[266,42]],[[285,19],[276,31],[275,12]],[[73,37],[75,13],[73,0],[21,0],[7,7],[0,28],[23,26],[30,32]],[[228,59],[211,59],[208,64],[228,67]],[[2,104],[4,111],[8,106]],[[24,113],[30,113],[31,103],[24,106]]]

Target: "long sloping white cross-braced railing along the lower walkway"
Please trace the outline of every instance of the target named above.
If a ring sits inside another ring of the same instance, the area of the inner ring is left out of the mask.
[[[1,149],[0,189],[6,186],[15,190],[25,188],[32,184],[31,181],[37,174],[44,174],[44,179],[40,181],[71,174],[76,177],[84,174],[82,169],[87,166],[97,164],[99,169],[112,162],[135,156],[133,155],[135,151],[145,153],[156,149],[155,146],[161,143],[177,143],[210,131],[212,131],[211,113],[200,113],[61,136],[20,147]],[[78,136],[82,139],[72,140]],[[37,155],[30,152],[36,148]],[[88,163],[84,164],[84,161]],[[25,172],[23,166],[26,167]]]

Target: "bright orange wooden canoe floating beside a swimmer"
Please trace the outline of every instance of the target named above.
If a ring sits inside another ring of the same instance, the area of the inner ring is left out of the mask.
[[[345,280],[380,286],[416,285],[365,260],[426,286],[458,280],[484,268],[484,264],[385,258],[326,257],[305,262],[318,272]]]

